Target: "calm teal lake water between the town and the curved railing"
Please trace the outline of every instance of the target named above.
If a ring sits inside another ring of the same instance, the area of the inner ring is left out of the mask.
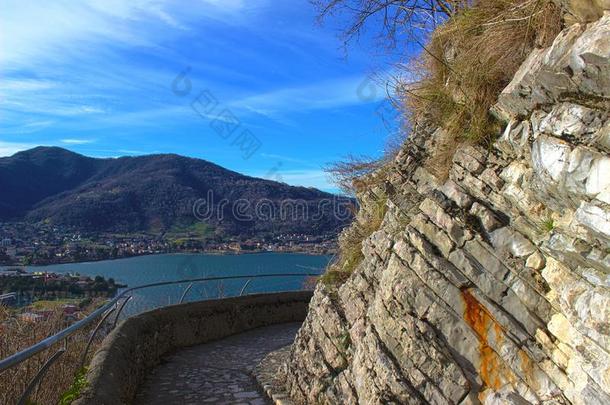
[[[278,274],[278,277],[252,279],[246,293],[301,290],[303,277],[281,277],[284,273],[322,273],[331,256],[293,253],[261,253],[245,255],[170,254],[140,256],[91,263],[60,264],[29,267],[28,271],[79,273],[87,276],[114,278],[117,283],[136,287],[145,284],[215,276],[253,276]],[[248,278],[210,281],[193,285],[185,301],[198,301],[239,295]],[[126,307],[130,315],[180,300],[187,284],[154,287],[134,293]]]

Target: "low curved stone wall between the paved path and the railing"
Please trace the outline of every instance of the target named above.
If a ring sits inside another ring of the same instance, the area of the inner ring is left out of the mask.
[[[250,329],[302,321],[310,292],[252,295],[175,305],[130,318],[104,341],[77,405],[130,403],[148,372],[176,349]]]

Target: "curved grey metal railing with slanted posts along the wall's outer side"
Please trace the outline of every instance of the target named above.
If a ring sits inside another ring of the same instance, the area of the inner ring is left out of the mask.
[[[18,405],[25,405],[27,403],[30,395],[34,391],[34,389],[42,383],[42,381],[45,377],[45,374],[49,370],[49,368],[53,365],[54,362],[56,362],[68,350],[68,338],[71,335],[75,334],[76,332],[84,329],[85,327],[92,325],[95,321],[98,321],[97,325],[95,326],[95,328],[93,329],[93,331],[91,332],[91,334],[89,336],[87,346],[81,357],[79,369],[82,369],[85,366],[87,355],[89,353],[89,350],[91,349],[91,345],[92,345],[93,341],[95,340],[95,337],[97,336],[99,330],[102,328],[102,326],[104,324],[107,323],[108,319],[110,319],[112,314],[115,314],[115,319],[114,319],[114,322],[112,323],[112,329],[114,329],[117,326],[121,313],[123,312],[123,310],[125,309],[127,304],[134,297],[133,293],[135,291],[154,288],[154,287],[163,287],[163,286],[171,286],[171,285],[188,283],[187,287],[184,289],[184,292],[182,293],[182,296],[180,297],[180,300],[178,302],[179,304],[182,304],[184,302],[187,294],[189,293],[189,291],[192,289],[192,287],[196,283],[201,283],[201,282],[206,282],[206,281],[226,281],[226,280],[244,280],[245,279],[246,282],[244,283],[243,287],[240,289],[240,292],[238,295],[238,296],[243,296],[245,294],[247,288],[250,286],[252,280],[255,280],[255,279],[273,278],[273,277],[283,278],[283,277],[319,277],[319,276],[320,276],[320,273],[284,273],[284,274],[218,276],[218,277],[203,277],[203,278],[194,278],[194,279],[186,279],[186,280],[178,280],[178,281],[164,281],[164,282],[158,282],[158,283],[146,284],[146,285],[142,285],[142,286],[138,286],[138,287],[128,288],[128,289],[122,291],[121,293],[119,293],[116,297],[112,298],[106,304],[102,305],[100,308],[93,311],[91,314],[87,315],[82,320],[73,323],[72,325],[61,330],[60,332],[56,333],[55,335],[50,336],[46,339],[43,339],[40,342],[36,343],[35,345],[28,347],[27,349],[24,349],[18,353],[13,354],[12,356],[9,356],[3,360],[0,360],[0,374],[2,374],[6,370],[9,370],[13,367],[16,367],[16,366],[22,364],[23,362],[25,362],[28,359],[35,356],[36,354],[41,353],[47,349],[50,349],[54,345],[63,341],[62,347],[57,352],[55,352],[51,357],[49,357],[49,359],[44,363],[44,365],[36,373],[34,378],[30,381],[26,390],[23,392],[23,394],[18,402]],[[162,306],[159,306],[159,307],[162,307]]]

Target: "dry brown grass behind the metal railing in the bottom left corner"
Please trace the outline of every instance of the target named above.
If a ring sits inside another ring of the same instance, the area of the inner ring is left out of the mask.
[[[66,326],[61,309],[53,311],[47,320],[33,323],[16,318],[9,309],[0,306],[0,358],[15,354],[57,333]],[[91,329],[87,328],[87,330],[77,332],[68,339],[68,350],[49,369],[45,380],[31,396],[30,403],[57,404],[62,395],[70,389],[79,371],[81,356]],[[90,349],[89,357],[93,355],[97,345],[99,345],[99,340]],[[61,347],[59,344],[55,345],[21,365],[0,374],[0,404],[17,403],[45,361]]]

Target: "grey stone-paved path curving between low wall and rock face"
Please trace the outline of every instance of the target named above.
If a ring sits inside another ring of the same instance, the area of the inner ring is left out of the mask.
[[[181,350],[151,372],[136,403],[270,404],[252,370],[267,353],[291,344],[300,325],[268,326]]]

